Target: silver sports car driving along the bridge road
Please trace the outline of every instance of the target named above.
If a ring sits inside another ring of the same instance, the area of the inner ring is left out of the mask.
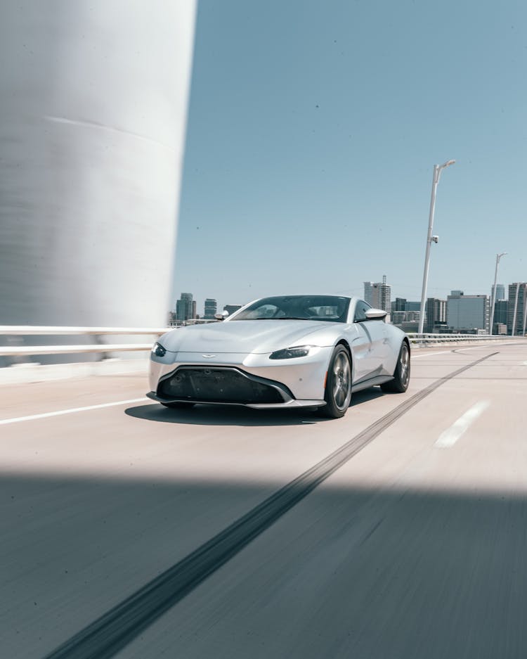
[[[263,297],[222,322],[162,335],[148,396],[166,407],[316,407],[344,416],[352,390],[408,388],[410,344],[385,316],[357,297]]]

